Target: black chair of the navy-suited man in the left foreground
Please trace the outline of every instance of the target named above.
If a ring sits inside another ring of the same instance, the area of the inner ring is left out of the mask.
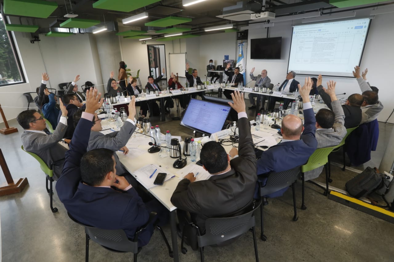
[[[80,221],[76,220],[75,218],[72,217],[72,215],[67,212],[69,218],[71,218],[72,221],[82,225],[85,227],[85,262],[89,261],[89,240],[93,240],[97,244],[101,245],[105,249],[108,249],[113,252],[119,252],[119,253],[126,253],[126,252],[131,252],[134,254],[134,262],[137,262],[137,255],[139,251],[141,251],[142,247],[138,247],[138,234],[141,232],[143,229],[145,229],[152,221],[154,221],[155,217],[157,216],[156,212],[151,212],[149,214],[149,220],[145,225],[141,226],[137,231],[136,234],[134,234],[134,239],[129,240],[126,236],[125,231],[123,229],[99,229],[97,227],[91,227],[89,225],[85,225],[84,223],[81,223]],[[155,223],[158,223],[158,220],[156,220]],[[165,244],[167,245],[168,248],[168,253],[169,256],[172,258],[173,257],[173,252],[171,250],[170,245],[168,244],[167,238],[165,237],[165,234],[162,230],[161,227],[158,225],[155,225],[155,227],[160,231],[162,234],[162,237],[164,239]]]

